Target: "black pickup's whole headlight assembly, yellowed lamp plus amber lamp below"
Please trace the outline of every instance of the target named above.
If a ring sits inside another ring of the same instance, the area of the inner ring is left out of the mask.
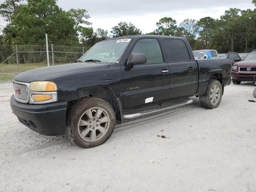
[[[57,85],[50,81],[30,83],[30,104],[45,104],[57,101]]]

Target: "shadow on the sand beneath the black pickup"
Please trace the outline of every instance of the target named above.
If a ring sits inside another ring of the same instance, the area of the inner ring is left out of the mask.
[[[113,142],[118,142],[115,140],[116,135],[118,134],[129,134],[129,132],[136,132],[136,128],[141,126],[142,124],[150,124],[154,121],[157,121],[162,118],[166,118],[170,115],[177,114],[184,110],[190,110],[191,108],[202,108],[199,104],[199,99],[196,97],[192,98],[194,102],[192,104],[172,108],[166,111],[158,112],[156,114],[151,114],[148,116],[143,116],[141,118],[136,118],[133,120],[129,120],[124,122],[123,124],[116,125],[116,128],[110,137],[110,142],[106,142],[105,145],[114,145]],[[22,126],[19,122],[18,126]],[[147,129],[145,127],[145,129]],[[32,156],[41,156],[46,154],[56,154],[60,151],[76,151],[76,150],[84,150],[78,146],[74,146],[70,143],[66,135],[63,136],[44,136],[40,135],[28,128],[23,129],[21,132],[16,132],[16,140],[6,143],[6,146],[10,146],[9,154],[6,154],[6,160],[11,160],[11,156],[13,155],[21,155],[26,157]],[[98,147],[97,147],[98,148]]]

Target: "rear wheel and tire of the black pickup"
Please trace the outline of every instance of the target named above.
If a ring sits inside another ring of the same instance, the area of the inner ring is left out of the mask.
[[[214,88],[216,88],[216,92],[214,91]],[[219,91],[217,90],[217,88],[219,89]],[[212,94],[214,94],[214,96],[212,96]],[[221,102],[221,99],[222,85],[218,80],[210,79],[206,88],[206,92],[203,95],[199,96],[199,102],[201,106],[208,109],[217,108]]]

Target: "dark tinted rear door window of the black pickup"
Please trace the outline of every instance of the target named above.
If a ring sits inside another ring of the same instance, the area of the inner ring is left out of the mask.
[[[168,62],[191,60],[186,44],[179,39],[164,39]]]

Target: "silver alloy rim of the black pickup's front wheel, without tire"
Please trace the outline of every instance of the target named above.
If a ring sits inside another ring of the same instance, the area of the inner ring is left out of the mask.
[[[78,121],[78,133],[88,142],[100,140],[108,132],[110,116],[106,110],[93,107],[82,114]]]

